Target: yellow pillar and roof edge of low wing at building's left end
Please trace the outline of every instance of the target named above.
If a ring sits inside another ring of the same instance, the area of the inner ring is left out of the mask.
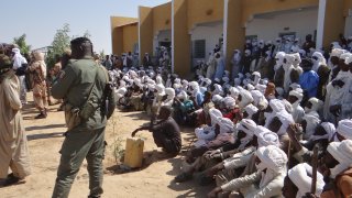
[[[136,18],[123,18],[123,16],[111,16],[110,18],[110,30],[111,30],[111,44],[112,54],[121,54],[123,51],[123,31],[121,26],[130,23],[138,22]]]

